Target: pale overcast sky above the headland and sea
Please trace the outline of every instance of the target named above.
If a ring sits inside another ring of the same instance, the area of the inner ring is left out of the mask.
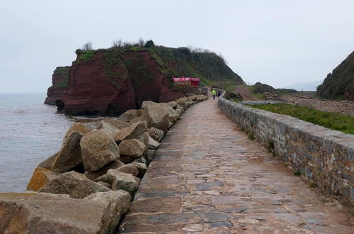
[[[152,39],[221,52],[245,82],[322,80],[354,50],[354,1],[0,2],[0,92],[45,92],[87,41]]]

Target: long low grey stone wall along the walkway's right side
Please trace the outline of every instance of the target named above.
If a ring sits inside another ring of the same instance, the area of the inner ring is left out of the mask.
[[[354,135],[219,98],[219,108],[309,182],[354,204]]]

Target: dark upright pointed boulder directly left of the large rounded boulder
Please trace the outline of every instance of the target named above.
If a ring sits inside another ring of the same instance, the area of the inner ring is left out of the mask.
[[[82,162],[80,140],[83,134],[69,130],[64,138],[62,149],[52,161],[52,171],[67,172]]]

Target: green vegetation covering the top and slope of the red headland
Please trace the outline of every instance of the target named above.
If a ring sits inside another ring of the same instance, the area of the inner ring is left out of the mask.
[[[110,67],[115,66],[115,62],[120,62],[121,57],[127,70],[139,74],[142,79],[151,79],[154,75],[152,69],[146,67],[146,61],[142,62],[139,54],[149,52],[159,67],[159,72],[164,77],[199,77],[202,82],[208,85],[244,84],[244,81],[238,74],[232,71],[222,57],[214,52],[191,52],[189,48],[166,48],[164,46],[155,46],[152,41],[148,41],[144,46],[137,44],[127,44],[124,46],[115,46],[109,49],[99,50],[76,50],[78,59],[75,62],[91,62],[99,52],[103,54],[105,62],[105,72],[109,77],[118,77],[119,74],[112,72]],[[130,57],[125,55],[130,54]]]

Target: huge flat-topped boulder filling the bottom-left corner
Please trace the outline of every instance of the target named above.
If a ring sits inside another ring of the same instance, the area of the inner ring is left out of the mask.
[[[120,192],[122,194],[122,192]],[[67,196],[38,193],[0,194],[0,233],[76,234],[111,233],[111,207],[125,211],[126,195],[121,205],[100,199],[72,199]],[[110,212],[110,213],[108,213]],[[116,221],[116,219],[114,219]]]

